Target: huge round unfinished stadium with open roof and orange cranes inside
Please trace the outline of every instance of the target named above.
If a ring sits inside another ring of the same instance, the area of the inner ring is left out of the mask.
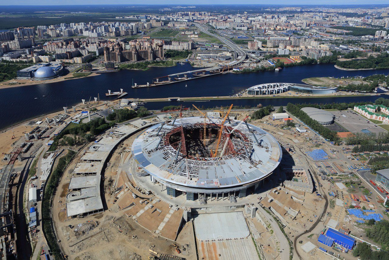
[[[282,158],[278,141],[263,129],[205,114],[151,126],[131,150],[152,183],[165,185],[170,196],[186,195],[186,200],[230,194],[243,198]]]

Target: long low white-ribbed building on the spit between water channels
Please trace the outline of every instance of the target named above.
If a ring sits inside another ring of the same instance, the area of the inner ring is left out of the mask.
[[[337,87],[315,87],[294,83],[266,83],[247,88],[247,94],[252,96],[274,95],[287,92],[289,90],[309,93],[309,94],[333,94]]]

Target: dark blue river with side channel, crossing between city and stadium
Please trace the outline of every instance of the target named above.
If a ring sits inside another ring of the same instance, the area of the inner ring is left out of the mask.
[[[89,97],[108,99],[105,97],[108,89],[118,91],[123,88],[128,92],[126,98],[162,98],[162,97],[201,97],[201,96],[230,96],[240,90],[249,88],[261,83],[287,82],[302,83],[301,80],[309,77],[332,76],[369,76],[372,74],[388,74],[388,69],[364,70],[364,71],[343,71],[336,69],[333,64],[314,64],[284,68],[282,71],[264,71],[257,73],[226,73],[217,74],[205,78],[197,78],[185,82],[179,82],[159,87],[131,88],[132,81],[138,84],[152,82],[152,79],[159,76],[166,76],[177,72],[192,70],[190,64],[175,67],[152,67],[147,71],[122,70],[112,73],[102,73],[98,76],[80,78],[75,80],[60,81],[55,83],[38,83],[12,88],[0,89],[0,129],[9,127],[18,122],[39,117],[54,111],[62,110],[63,106],[71,108],[81,103],[81,99],[89,100]],[[188,85],[185,87],[185,85]],[[273,104],[286,105],[288,102],[314,102],[332,103],[349,101],[375,100],[377,97],[326,97],[326,98],[279,98],[279,99],[242,99],[242,100],[214,100],[210,102],[197,102],[199,106],[214,107],[219,105],[251,105],[256,106]],[[178,104],[172,102],[150,102],[145,106],[149,109],[160,109],[167,104]],[[192,103],[182,102],[187,107]]]

